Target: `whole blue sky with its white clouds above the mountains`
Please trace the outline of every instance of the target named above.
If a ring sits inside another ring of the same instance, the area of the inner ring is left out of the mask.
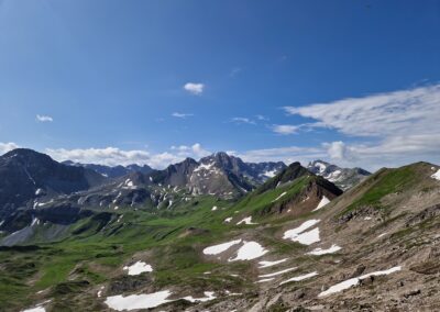
[[[0,0],[0,152],[439,163],[439,38],[429,0]]]

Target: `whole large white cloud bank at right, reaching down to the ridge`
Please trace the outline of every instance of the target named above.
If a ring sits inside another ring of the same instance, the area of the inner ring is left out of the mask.
[[[350,136],[350,144],[322,145],[330,159],[345,166],[376,169],[440,160],[440,85],[285,110],[316,120],[298,129],[334,129]]]

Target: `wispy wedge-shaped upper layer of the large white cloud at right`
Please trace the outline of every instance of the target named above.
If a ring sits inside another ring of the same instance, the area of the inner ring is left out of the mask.
[[[439,133],[440,85],[285,110],[351,136]]]

